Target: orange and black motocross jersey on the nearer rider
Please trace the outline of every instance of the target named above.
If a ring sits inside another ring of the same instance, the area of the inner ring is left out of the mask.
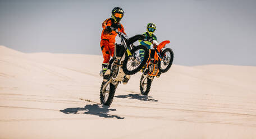
[[[107,26],[114,27],[118,29],[118,31],[126,35],[124,26],[121,23],[119,22],[115,23],[115,20],[113,20],[113,18],[108,18],[102,23],[103,30],[102,30],[101,39],[107,39],[109,43],[116,42],[117,33],[115,31],[107,30],[106,29]]]

